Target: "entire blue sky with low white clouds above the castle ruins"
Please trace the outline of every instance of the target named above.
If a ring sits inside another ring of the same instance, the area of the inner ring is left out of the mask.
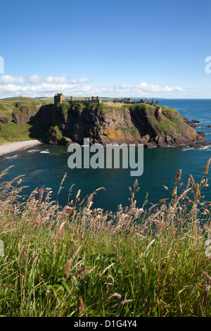
[[[1,99],[211,98],[211,0],[1,0],[0,9]]]

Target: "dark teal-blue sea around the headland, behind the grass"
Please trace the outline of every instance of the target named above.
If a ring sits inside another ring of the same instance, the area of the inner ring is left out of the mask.
[[[199,120],[197,131],[204,131],[205,139],[211,142],[211,99],[159,99],[160,106],[175,108],[188,120]],[[67,205],[71,200],[75,203],[77,192],[80,191],[80,201],[94,194],[93,208],[103,211],[117,211],[118,206],[129,206],[129,187],[134,188],[138,181],[139,191],[135,193],[136,206],[141,208],[146,201],[145,208],[158,203],[160,199],[170,199],[174,178],[181,169],[180,192],[185,188],[189,175],[193,175],[195,182],[200,182],[205,165],[211,157],[211,146],[200,149],[190,149],[187,146],[144,149],[143,174],[131,176],[131,169],[83,169],[68,167],[70,153],[67,146],[37,145],[33,148],[22,149],[6,155],[0,162],[0,172],[13,165],[1,182],[11,180],[19,175],[23,181],[21,185],[23,195],[29,196],[34,189],[51,189],[51,201],[58,201],[60,206]],[[60,184],[62,188],[58,194]],[[211,201],[211,165],[208,187],[203,187],[203,195]],[[168,192],[165,188],[168,187]],[[97,191],[96,191],[97,190]]]

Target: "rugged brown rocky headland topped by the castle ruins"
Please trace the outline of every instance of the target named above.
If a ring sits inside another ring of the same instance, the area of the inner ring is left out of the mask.
[[[205,142],[174,109],[146,104],[66,104],[41,106],[35,122],[45,125],[48,144],[143,143],[146,147]]]

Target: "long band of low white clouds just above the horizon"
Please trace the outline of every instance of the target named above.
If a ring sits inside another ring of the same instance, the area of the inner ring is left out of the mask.
[[[67,76],[43,77],[41,75],[32,75],[28,80],[25,80],[24,77],[2,75],[0,76],[0,98],[15,95],[32,97],[53,96],[57,92],[63,92],[66,96],[130,96],[141,98],[143,96],[156,97],[159,93],[163,97],[177,97],[184,96],[185,92],[185,89],[182,87],[148,85],[146,82],[140,82],[136,85],[122,84],[107,87],[84,85],[87,82],[91,82],[87,77],[79,79],[74,77],[69,82]]]

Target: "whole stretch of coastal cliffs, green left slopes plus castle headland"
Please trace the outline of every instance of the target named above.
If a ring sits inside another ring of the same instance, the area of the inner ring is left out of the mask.
[[[143,143],[146,147],[205,142],[192,122],[174,108],[148,104],[54,105],[47,100],[11,98],[0,101],[0,144],[43,139],[48,144]]]

